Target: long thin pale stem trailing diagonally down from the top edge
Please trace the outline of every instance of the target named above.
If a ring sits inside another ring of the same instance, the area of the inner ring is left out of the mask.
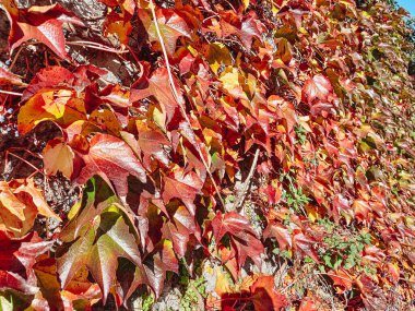
[[[195,140],[195,133],[191,127],[191,122],[190,122],[190,119],[188,117],[188,115],[186,113],[186,108],[185,106],[182,105],[182,103],[180,101],[180,96],[179,94],[177,93],[177,89],[176,89],[176,86],[175,86],[175,81],[173,79],[173,74],[171,74],[171,70],[170,70],[170,63],[168,61],[168,55],[167,55],[167,50],[166,50],[166,47],[165,47],[165,44],[164,44],[164,39],[163,39],[163,36],[162,36],[162,32],[158,27],[158,23],[157,23],[157,16],[156,16],[156,13],[155,13],[155,5],[154,5],[154,2],[153,0],[150,0],[150,10],[152,11],[152,16],[153,16],[153,20],[154,20],[154,25],[155,25],[155,28],[156,28],[156,33],[157,33],[157,36],[158,36],[158,40],[159,40],[159,44],[162,46],[162,50],[163,50],[163,56],[164,56],[164,59],[166,61],[166,69],[167,69],[167,75],[168,75],[168,82],[169,82],[169,85],[170,85],[170,88],[171,88],[171,92],[173,92],[173,96],[175,97],[175,100],[177,101],[179,108],[180,108],[180,112],[182,115],[182,117],[185,118],[186,122],[188,123],[189,125],[189,130],[190,130],[190,134],[192,136],[192,139],[194,140],[194,142],[197,142]],[[221,195],[221,192],[220,192],[220,188],[216,183],[216,181],[214,180],[213,176],[212,176],[212,172],[211,170],[209,169],[209,166],[208,166],[208,163],[206,160],[204,159],[204,156],[203,156],[203,153],[200,148],[200,146],[197,144],[194,146],[199,153],[199,156],[200,158],[202,159],[202,163],[203,163],[203,166],[204,168],[206,169],[206,172],[210,177],[210,179],[212,180],[212,183],[213,183],[213,187],[215,188],[215,191],[217,193],[217,196],[221,201],[221,204],[223,207],[225,207],[225,202]]]

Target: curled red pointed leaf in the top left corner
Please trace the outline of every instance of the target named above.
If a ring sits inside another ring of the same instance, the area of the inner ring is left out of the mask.
[[[10,49],[13,50],[21,44],[36,39],[48,46],[59,57],[67,59],[64,50],[66,39],[62,24],[72,23],[83,25],[75,15],[59,4],[47,7],[32,7],[17,9],[14,0],[2,1],[10,20],[9,35]]]

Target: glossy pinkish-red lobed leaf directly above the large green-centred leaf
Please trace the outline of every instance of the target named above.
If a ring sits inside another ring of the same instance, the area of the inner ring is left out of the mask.
[[[108,184],[114,184],[117,193],[124,198],[128,193],[127,178],[135,176],[146,181],[145,171],[129,145],[111,135],[96,134],[90,143],[87,155],[83,156],[85,167],[76,181],[85,183],[94,175],[99,175]]]

